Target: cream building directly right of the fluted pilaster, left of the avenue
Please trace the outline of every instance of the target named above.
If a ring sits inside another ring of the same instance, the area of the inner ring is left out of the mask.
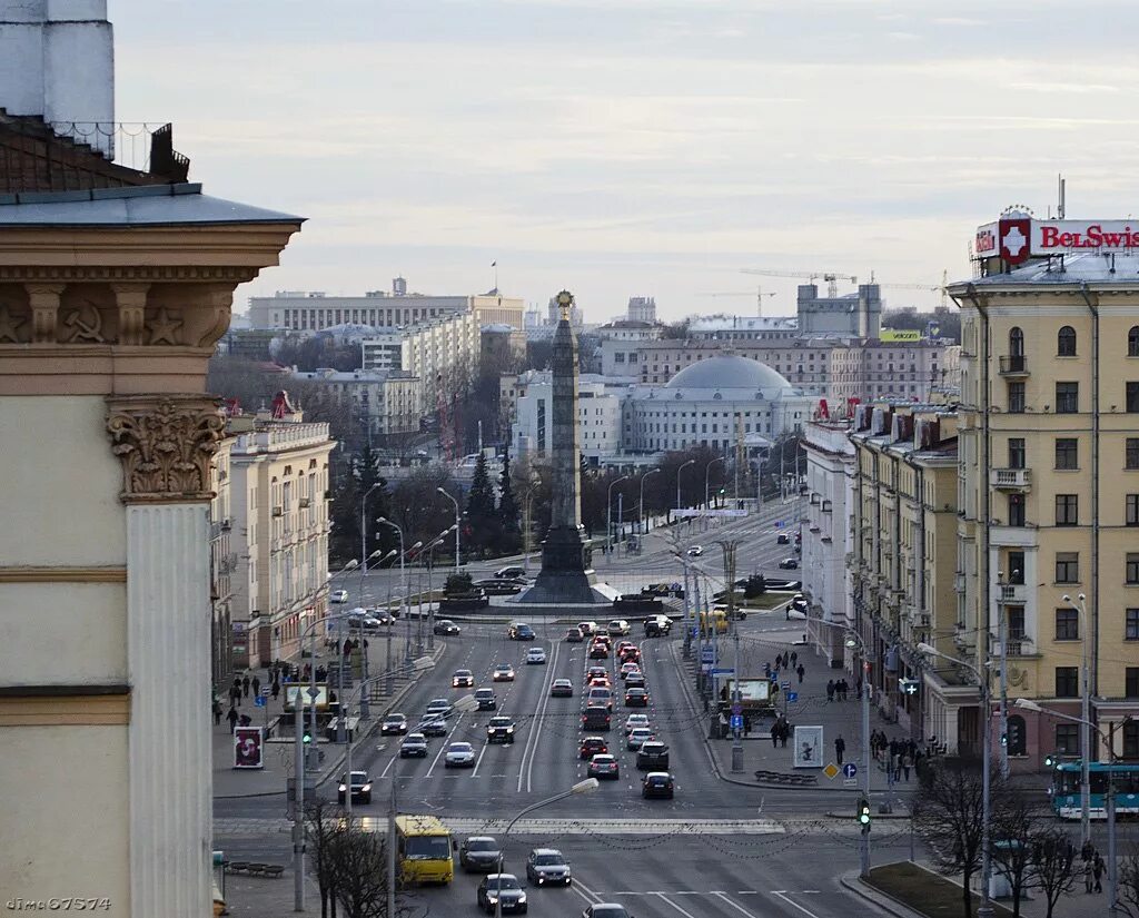
[[[327,424],[305,421],[287,401],[273,415],[229,424],[236,669],[296,656],[298,636],[328,607],[328,456],[336,443]]]

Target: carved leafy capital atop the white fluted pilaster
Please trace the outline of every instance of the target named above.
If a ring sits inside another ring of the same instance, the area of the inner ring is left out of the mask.
[[[203,395],[107,399],[112,451],[123,462],[123,503],[205,501],[210,460],[226,427],[219,402]]]

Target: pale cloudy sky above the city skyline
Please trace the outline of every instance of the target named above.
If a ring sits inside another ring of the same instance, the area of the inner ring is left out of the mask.
[[[1132,211],[1133,0],[110,0],[116,118],[206,194],[301,214],[238,289],[469,294],[588,321],[932,308],[1009,205]],[[821,281],[820,281],[821,284]],[[853,287],[841,284],[841,292]],[[727,294],[711,296],[710,294]]]

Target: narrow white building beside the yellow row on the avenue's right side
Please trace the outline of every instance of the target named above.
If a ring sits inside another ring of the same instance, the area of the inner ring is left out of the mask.
[[[829,661],[845,659],[845,630],[854,628],[854,600],[846,552],[854,519],[854,445],[847,420],[814,420],[806,425],[806,487],[803,523],[803,595],[810,603],[811,642]]]

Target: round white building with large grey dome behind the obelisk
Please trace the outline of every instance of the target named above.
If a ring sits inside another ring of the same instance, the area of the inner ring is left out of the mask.
[[[816,402],[767,364],[722,354],[686,367],[664,385],[633,387],[623,445],[628,452],[723,451],[735,449],[739,436],[776,440],[802,431]]]

